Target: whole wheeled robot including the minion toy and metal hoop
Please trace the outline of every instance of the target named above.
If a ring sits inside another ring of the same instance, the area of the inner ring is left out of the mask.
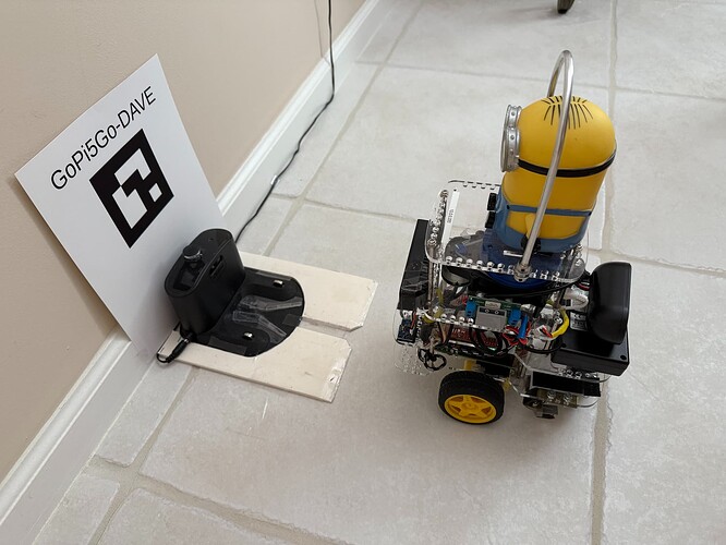
[[[589,272],[583,243],[615,132],[572,78],[562,51],[546,97],[507,109],[501,182],[449,182],[415,227],[394,327],[401,365],[446,370],[438,403],[460,422],[497,421],[508,389],[543,419],[591,407],[630,363],[631,267]]]

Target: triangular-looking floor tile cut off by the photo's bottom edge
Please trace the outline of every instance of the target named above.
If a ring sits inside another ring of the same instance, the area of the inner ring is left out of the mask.
[[[181,506],[136,489],[113,516],[100,543],[275,545],[283,542],[239,528],[203,509]]]

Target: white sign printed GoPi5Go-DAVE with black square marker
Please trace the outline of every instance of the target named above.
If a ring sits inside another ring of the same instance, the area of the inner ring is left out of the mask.
[[[158,57],[15,175],[129,338],[156,352],[177,323],[167,272],[199,232],[223,227]]]

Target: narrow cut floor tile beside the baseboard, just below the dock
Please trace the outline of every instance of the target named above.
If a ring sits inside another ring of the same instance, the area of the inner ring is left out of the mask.
[[[183,363],[167,367],[152,364],[106,434],[96,456],[120,465],[131,465],[171,407],[190,370]]]

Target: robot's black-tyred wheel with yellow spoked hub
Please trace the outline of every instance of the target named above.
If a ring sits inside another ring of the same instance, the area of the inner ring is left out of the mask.
[[[495,379],[475,371],[446,375],[438,390],[441,410],[467,424],[489,424],[504,413],[504,390]]]

